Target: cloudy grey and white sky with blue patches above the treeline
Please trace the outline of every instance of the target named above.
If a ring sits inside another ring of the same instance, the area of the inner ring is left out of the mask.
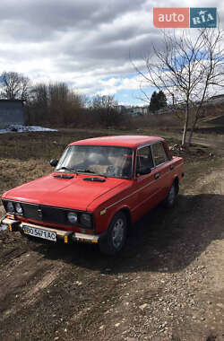
[[[159,44],[153,7],[179,5],[172,0],[1,0],[0,73],[16,71],[33,82],[64,81],[88,96],[114,94],[120,103],[142,105],[130,56],[142,66],[151,44]],[[224,21],[217,0],[183,0],[181,6],[217,6]]]

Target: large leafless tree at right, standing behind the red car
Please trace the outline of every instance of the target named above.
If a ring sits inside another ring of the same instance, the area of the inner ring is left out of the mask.
[[[162,32],[160,50],[152,47],[151,56],[144,58],[146,72],[136,66],[142,75],[142,85],[163,90],[176,103],[185,108],[182,145],[190,145],[194,128],[201,118],[203,103],[224,86],[224,33],[218,29],[184,30],[180,36],[175,31]],[[147,93],[143,90],[148,99]],[[186,142],[187,131],[189,131]]]

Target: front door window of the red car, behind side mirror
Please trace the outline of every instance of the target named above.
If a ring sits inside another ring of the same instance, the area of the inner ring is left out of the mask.
[[[151,168],[154,167],[151,147],[142,147],[137,151],[136,159],[136,175],[148,174],[151,172]]]

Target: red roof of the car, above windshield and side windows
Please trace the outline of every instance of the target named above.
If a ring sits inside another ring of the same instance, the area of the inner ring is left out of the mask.
[[[87,138],[86,140],[76,141],[69,145],[117,145],[135,148],[142,144],[151,144],[156,141],[164,141],[158,136],[139,136],[139,135],[122,135],[122,136],[102,136]]]

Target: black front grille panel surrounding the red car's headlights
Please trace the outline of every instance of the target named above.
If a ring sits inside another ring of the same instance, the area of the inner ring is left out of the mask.
[[[69,212],[75,212],[78,215],[77,224],[79,226],[82,225],[80,223],[80,215],[83,212],[60,208],[60,207],[47,206],[47,205],[28,204],[28,203],[23,203],[21,201],[19,203],[22,205],[22,212],[23,212],[22,216],[24,218],[36,220],[36,221],[43,222],[43,223],[58,223],[58,224],[73,226],[73,224],[67,220],[67,214]],[[3,204],[4,204],[4,209],[6,211],[7,200],[3,200]],[[13,204],[15,204],[15,202],[13,202]],[[92,219],[92,216],[91,216],[91,219]],[[92,228],[91,229],[89,228],[90,230],[93,229],[93,220],[92,220],[91,226]],[[87,229],[87,227],[84,227],[84,228]]]

